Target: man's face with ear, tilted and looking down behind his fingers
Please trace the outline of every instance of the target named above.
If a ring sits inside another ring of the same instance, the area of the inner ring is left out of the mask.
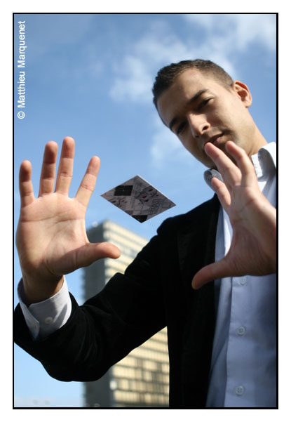
[[[204,152],[205,143],[212,142],[225,152],[226,141],[233,140],[249,156],[259,149],[258,131],[248,112],[251,103],[250,91],[241,82],[227,89],[216,79],[191,69],[161,94],[158,112],[196,159],[214,167]]]

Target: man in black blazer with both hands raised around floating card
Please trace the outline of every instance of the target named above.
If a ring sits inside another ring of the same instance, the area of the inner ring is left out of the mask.
[[[79,307],[64,275],[119,250],[86,237],[99,159],[70,199],[74,140],[62,145],[55,192],[48,143],[37,199],[29,161],[20,167],[15,341],[51,376],[93,381],[167,326],[170,407],[276,407],[276,148],[250,116],[248,87],[208,60],[163,68],[153,92],[217,195],[165,220],[125,275]]]

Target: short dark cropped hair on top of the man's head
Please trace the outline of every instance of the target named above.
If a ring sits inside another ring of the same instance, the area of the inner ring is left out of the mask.
[[[189,69],[197,69],[205,74],[210,74],[212,77],[217,79],[217,81],[226,86],[226,88],[230,88],[233,84],[233,79],[229,76],[228,73],[225,72],[222,67],[216,65],[214,62],[210,60],[182,60],[178,63],[172,63],[171,65],[162,67],[161,70],[158,71],[156,75],[156,79],[154,81],[154,86],[152,92],[154,94],[154,105],[157,107],[158,98],[160,95],[170,86],[173,84],[175,79],[184,72],[185,70]]]

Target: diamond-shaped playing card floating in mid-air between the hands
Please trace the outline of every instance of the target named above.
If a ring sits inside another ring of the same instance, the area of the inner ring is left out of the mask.
[[[174,202],[140,176],[126,180],[101,196],[140,223],[175,206]]]

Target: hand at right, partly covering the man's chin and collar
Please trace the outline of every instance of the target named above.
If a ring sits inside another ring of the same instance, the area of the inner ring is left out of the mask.
[[[231,246],[222,260],[196,273],[194,289],[222,277],[276,272],[276,209],[260,192],[255,169],[245,151],[232,141],[226,143],[226,150],[237,166],[212,143],[205,145],[205,152],[224,180],[222,183],[213,178],[212,187],[231,221]]]

